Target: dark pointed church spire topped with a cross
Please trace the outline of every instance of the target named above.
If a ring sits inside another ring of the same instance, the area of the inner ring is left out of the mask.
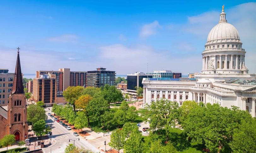
[[[22,83],[22,74],[20,68],[20,48],[18,47],[18,55],[16,61],[15,74],[13,79],[12,94],[24,94],[24,88]]]

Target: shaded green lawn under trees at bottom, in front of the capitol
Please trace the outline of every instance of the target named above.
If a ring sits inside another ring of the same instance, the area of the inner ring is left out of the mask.
[[[159,132],[158,139],[161,139],[162,142],[166,141],[165,129],[158,130],[155,133]],[[146,136],[142,137],[142,140],[146,139]],[[172,129],[169,135],[169,142],[176,148],[178,152],[184,153],[202,153],[204,145],[201,143],[194,142],[186,139],[185,134],[182,130],[174,128]]]

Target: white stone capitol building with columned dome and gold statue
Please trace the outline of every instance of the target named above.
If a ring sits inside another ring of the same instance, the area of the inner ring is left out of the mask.
[[[255,117],[256,74],[249,74],[245,65],[245,49],[236,28],[227,22],[224,7],[220,20],[209,32],[202,52],[201,73],[195,80],[143,79],[143,102],[166,98],[177,101],[218,103],[223,107],[237,106]]]

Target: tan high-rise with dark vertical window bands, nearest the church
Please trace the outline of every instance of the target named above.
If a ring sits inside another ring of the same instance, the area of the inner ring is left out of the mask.
[[[43,101],[46,106],[56,102],[57,80],[55,74],[42,74],[33,79],[33,101]]]

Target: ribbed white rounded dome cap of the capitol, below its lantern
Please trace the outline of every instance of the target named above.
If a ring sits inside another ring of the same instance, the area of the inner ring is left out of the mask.
[[[218,41],[222,39],[234,39],[240,41],[236,28],[227,22],[220,22],[215,25],[207,37],[207,42]]]

